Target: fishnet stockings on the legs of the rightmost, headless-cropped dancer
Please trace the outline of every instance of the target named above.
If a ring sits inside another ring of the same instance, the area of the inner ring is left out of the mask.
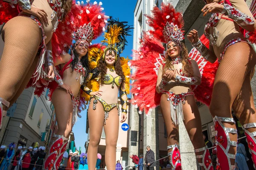
[[[251,90],[249,90],[251,88],[247,89],[250,87],[250,75],[248,76],[248,74],[253,70],[255,63],[255,52],[246,42],[238,42],[227,48],[215,76],[212,101],[209,106],[213,117],[232,117],[231,106],[235,100],[236,105],[239,103],[240,107],[250,105],[249,101],[252,93]],[[244,82],[247,83],[244,84]],[[245,94],[246,91],[250,91],[250,94]],[[239,97],[236,99],[238,95]],[[239,110],[239,106],[235,106],[236,111]],[[244,111],[244,109],[240,109],[240,111]],[[249,108],[247,108],[247,111],[252,113]],[[243,117],[247,122],[256,122],[255,114],[251,116],[243,115]],[[241,119],[241,115],[239,118]],[[242,120],[242,124],[244,120]],[[223,124],[225,127],[236,129],[236,125],[233,123],[223,122]],[[237,141],[237,134],[229,134],[230,140]],[[235,154],[236,147],[230,147],[229,153]],[[234,164],[234,159],[231,159],[231,164]]]

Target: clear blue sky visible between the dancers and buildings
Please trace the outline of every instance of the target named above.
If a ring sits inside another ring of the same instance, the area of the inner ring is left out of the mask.
[[[77,1],[77,0],[76,0]],[[91,0],[93,3],[95,0]],[[102,7],[104,8],[105,15],[113,16],[113,18],[118,18],[119,21],[127,21],[128,25],[133,26],[134,24],[134,9],[137,3],[137,0],[97,0],[97,2],[102,2]],[[81,0],[80,0],[81,2]],[[84,0],[86,3],[86,0]],[[97,43],[103,40],[103,37],[99,37],[93,43]],[[125,47],[125,50],[121,54],[121,57],[129,57],[131,59],[132,47],[133,47],[133,30],[131,30],[131,36],[127,37],[128,45]],[[129,95],[131,96],[131,95]],[[75,143],[77,149],[79,146],[82,148],[82,152],[85,151],[84,144],[87,140],[86,130],[86,116],[87,111],[81,113],[82,118],[76,122],[76,125],[73,127],[73,132],[75,135]]]

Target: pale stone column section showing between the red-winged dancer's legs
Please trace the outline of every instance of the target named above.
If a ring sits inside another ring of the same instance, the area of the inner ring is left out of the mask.
[[[180,136],[180,157],[181,157],[181,165],[183,170],[200,170],[200,167],[199,169],[197,167],[194,147],[189,139],[189,135],[183,123],[179,125],[179,136]]]

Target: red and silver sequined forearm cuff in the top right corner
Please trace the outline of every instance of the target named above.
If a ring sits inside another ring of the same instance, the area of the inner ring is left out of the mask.
[[[237,24],[240,26],[253,25],[255,23],[252,17],[242,13],[238,9],[234,8],[233,6],[224,4],[224,9],[227,11],[228,17],[233,19],[235,22],[239,22]]]

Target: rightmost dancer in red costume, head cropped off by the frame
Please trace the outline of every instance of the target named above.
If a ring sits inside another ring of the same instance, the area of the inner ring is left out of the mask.
[[[209,62],[220,62],[216,72],[209,110],[214,117],[217,141],[216,169],[235,168],[237,130],[233,109],[244,128],[248,146],[256,163],[256,109],[250,79],[254,73],[256,54],[249,41],[255,43],[255,19],[244,0],[204,0],[202,12],[213,13],[205,26],[209,49],[198,40],[198,32],[190,31],[189,41]],[[251,6],[254,10],[255,1]],[[244,30],[249,31],[244,37]],[[237,70],[234,73],[234,70]]]

